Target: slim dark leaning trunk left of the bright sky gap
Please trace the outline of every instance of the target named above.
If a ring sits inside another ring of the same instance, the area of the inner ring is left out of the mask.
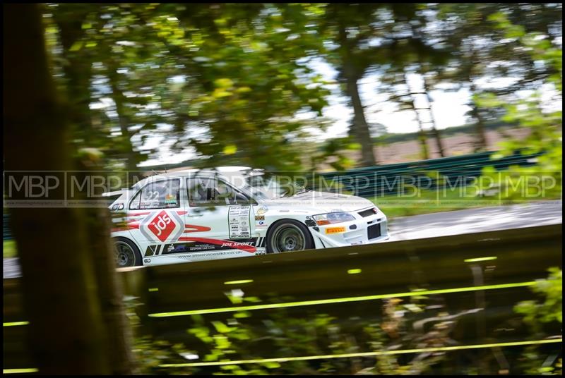
[[[369,125],[367,125],[367,120],[365,119],[361,97],[359,97],[358,75],[352,65],[352,54],[347,42],[344,25],[340,25],[339,33],[343,64],[342,74],[345,79],[347,95],[350,97],[353,106],[353,128],[355,130],[355,138],[357,138],[357,142],[361,145],[362,166],[374,166],[376,165],[374,143],[369,131]]]

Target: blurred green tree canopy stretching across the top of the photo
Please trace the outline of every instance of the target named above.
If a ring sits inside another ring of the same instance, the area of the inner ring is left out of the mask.
[[[167,146],[172,154],[193,152],[198,165],[349,169],[358,162],[335,148],[339,142],[309,138],[330,124],[321,117],[328,83],[313,71],[314,59],[337,69],[347,96],[346,78],[377,73],[379,92],[410,109],[414,99],[400,85],[407,73],[425,77],[426,92],[446,83],[469,87],[475,115],[486,124],[499,121],[508,103],[494,94],[540,80],[561,91],[561,51],[542,38],[561,19],[559,10],[555,4],[48,4],[44,23],[53,73],[73,109],[71,138],[105,152],[109,168],[135,169]],[[478,40],[484,46],[477,48]],[[520,82],[494,92],[477,86],[509,76]],[[388,142],[357,134],[352,130],[363,151]]]

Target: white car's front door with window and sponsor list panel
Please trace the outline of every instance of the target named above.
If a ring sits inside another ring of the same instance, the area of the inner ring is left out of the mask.
[[[182,239],[191,243],[188,250],[222,252],[210,255],[214,258],[255,252],[248,197],[218,176],[188,177],[186,188],[188,206]]]

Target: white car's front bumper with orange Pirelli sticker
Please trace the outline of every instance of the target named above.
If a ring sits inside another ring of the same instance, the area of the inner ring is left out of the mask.
[[[351,212],[354,221],[310,227],[316,248],[347,247],[388,240],[388,222],[380,210],[369,217]],[[316,229],[317,228],[317,229]]]

